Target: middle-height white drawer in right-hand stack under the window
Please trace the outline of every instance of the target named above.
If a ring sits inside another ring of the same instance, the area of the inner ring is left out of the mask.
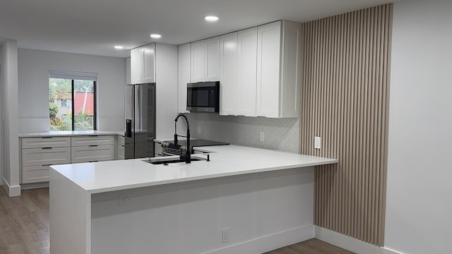
[[[114,159],[114,145],[97,145],[72,147],[71,161],[78,162],[100,162]]]

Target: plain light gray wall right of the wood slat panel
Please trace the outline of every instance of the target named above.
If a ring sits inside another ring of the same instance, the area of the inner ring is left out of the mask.
[[[394,4],[385,247],[452,253],[452,1]]]

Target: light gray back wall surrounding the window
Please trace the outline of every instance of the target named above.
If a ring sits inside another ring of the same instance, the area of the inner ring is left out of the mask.
[[[124,129],[126,59],[19,49],[18,64],[19,132],[49,131],[49,70],[98,73],[97,129]]]

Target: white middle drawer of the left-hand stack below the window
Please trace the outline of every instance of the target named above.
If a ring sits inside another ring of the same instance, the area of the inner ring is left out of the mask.
[[[43,147],[22,150],[22,166],[71,163],[71,147]]]

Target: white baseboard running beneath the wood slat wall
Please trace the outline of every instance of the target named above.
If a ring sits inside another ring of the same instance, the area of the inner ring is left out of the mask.
[[[315,236],[321,241],[326,241],[345,250],[358,254],[401,254],[387,248],[374,246],[350,236],[345,236],[335,231],[315,226]]]

